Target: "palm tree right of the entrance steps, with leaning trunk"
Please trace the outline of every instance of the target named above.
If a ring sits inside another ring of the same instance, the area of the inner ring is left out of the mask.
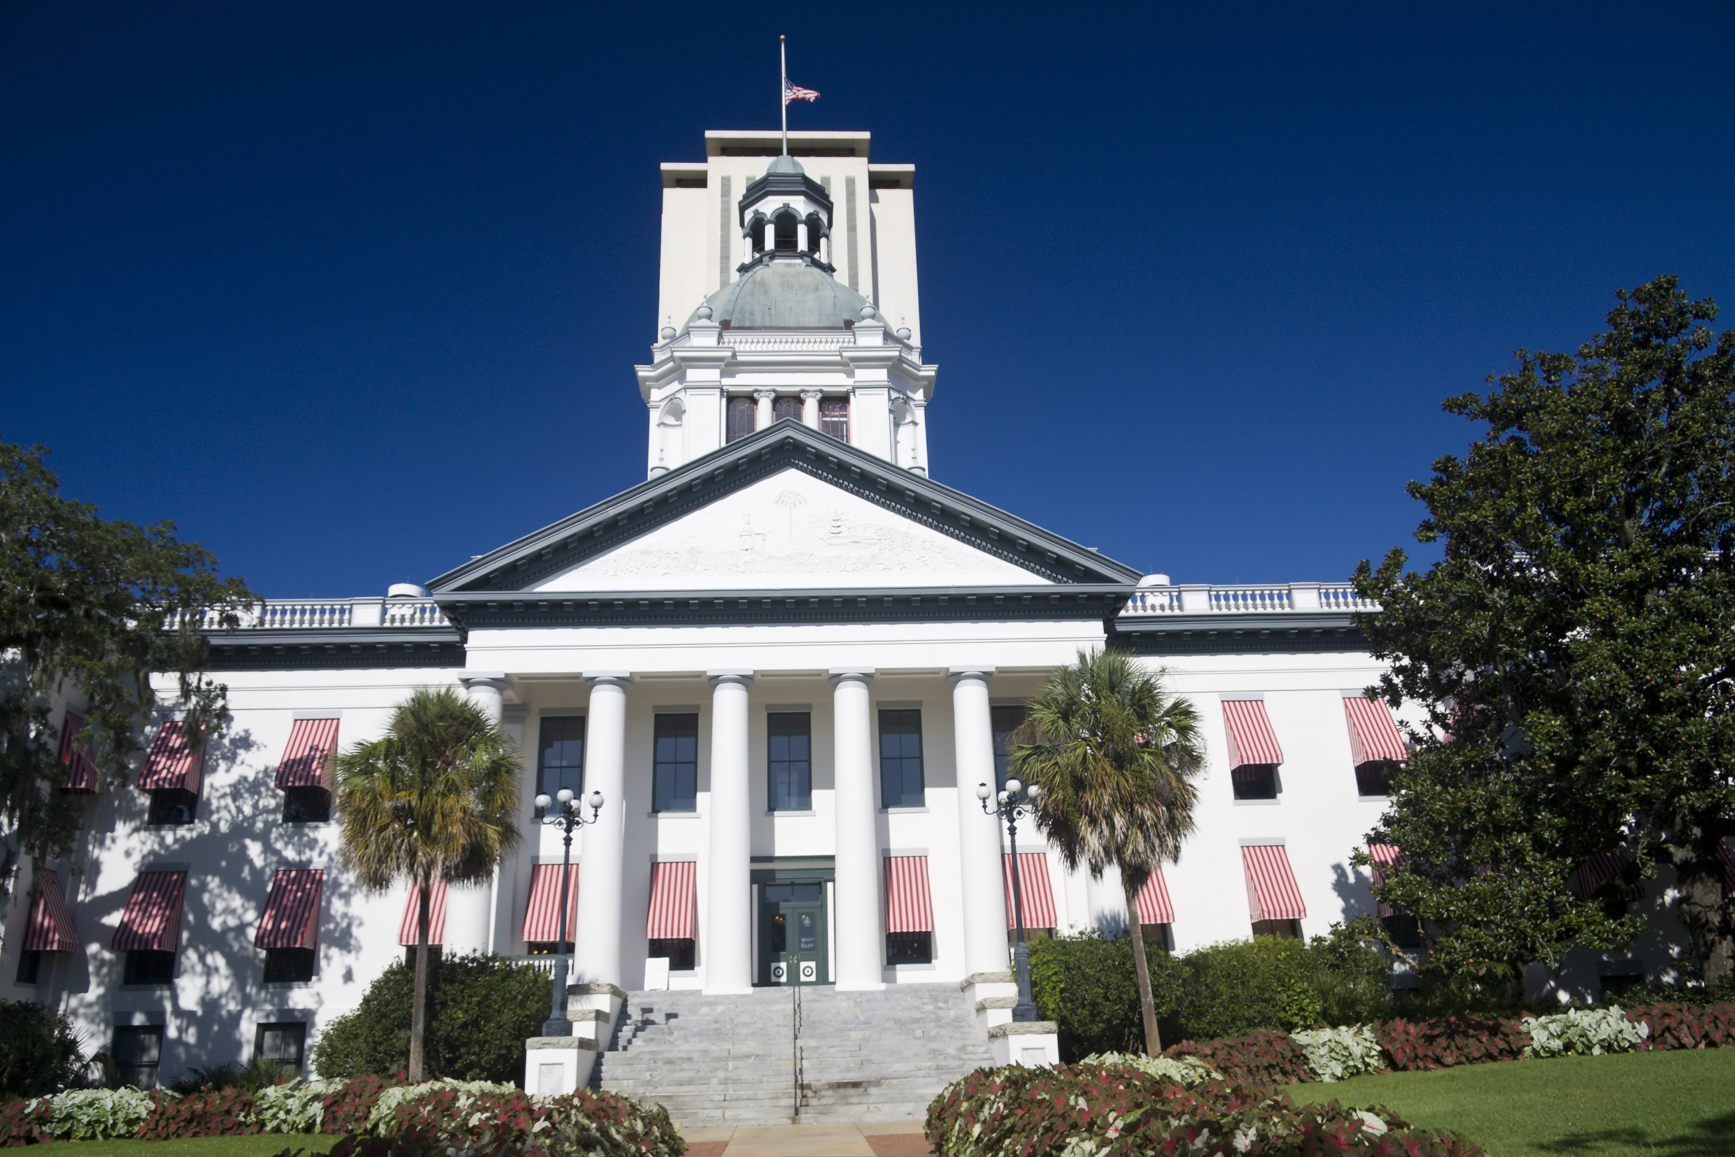
[[[1121,650],[1079,650],[1048,677],[1012,739],[1012,772],[1041,786],[1036,824],[1067,867],[1121,869],[1145,1051],[1157,1056],[1157,1006],[1138,923],[1138,892],[1178,860],[1194,829],[1194,777],[1204,767],[1199,711],[1162,690]]]

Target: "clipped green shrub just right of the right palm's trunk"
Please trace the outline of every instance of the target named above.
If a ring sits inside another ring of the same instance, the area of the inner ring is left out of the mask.
[[[1180,999],[1182,1032],[1194,1041],[1319,1023],[1322,1006],[1300,940],[1228,940],[1188,952],[1182,964],[1188,973]]]

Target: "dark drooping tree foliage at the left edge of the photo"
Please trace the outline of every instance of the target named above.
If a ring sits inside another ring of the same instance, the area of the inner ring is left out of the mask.
[[[191,739],[222,727],[226,689],[206,675],[203,626],[234,628],[257,600],[174,522],[134,526],[61,496],[47,449],[0,442],[0,879],[19,852],[52,859],[78,829],[59,791],[54,699],[76,689],[101,779],[125,782],[158,708],[153,675],[174,675]]]

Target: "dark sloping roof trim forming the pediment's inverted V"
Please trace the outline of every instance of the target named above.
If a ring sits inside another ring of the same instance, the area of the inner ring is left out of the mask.
[[[427,583],[435,598],[527,592],[640,534],[786,468],[1060,585],[1133,585],[1135,567],[784,418]],[[540,592],[536,592],[540,593]]]

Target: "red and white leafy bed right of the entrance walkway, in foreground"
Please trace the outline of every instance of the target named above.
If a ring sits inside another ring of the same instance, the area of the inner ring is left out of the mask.
[[[926,1136],[949,1157],[1175,1154],[1277,1157],[1371,1154],[1480,1157],[1470,1141],[1412,1129],[1390,1110],[1296,1107],[1287,1096],[1213,1081],[1185,1088],[1129,1065],[979,1069],[928,1107]]]

